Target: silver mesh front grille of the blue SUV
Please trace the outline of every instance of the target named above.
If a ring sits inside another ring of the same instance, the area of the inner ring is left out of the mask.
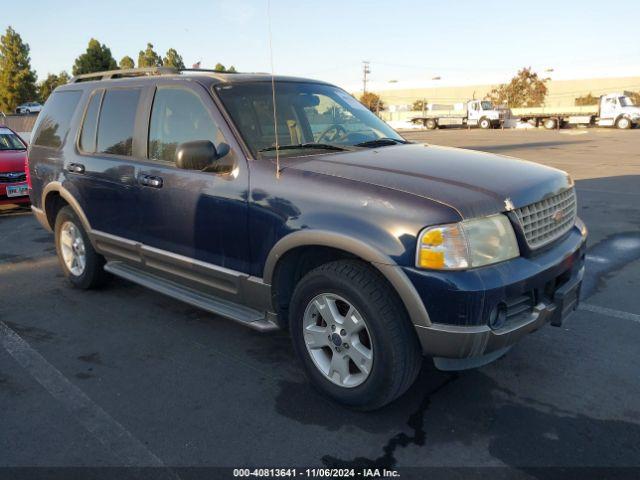
[[[576,193],[573,188],[514,210],[529,248],[540,248],[560,238],[576,220]]]

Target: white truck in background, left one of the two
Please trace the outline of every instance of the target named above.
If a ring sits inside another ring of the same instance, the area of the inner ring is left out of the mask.
[[[450,125],[492,128],[500,126],[504,112],[496,110],[488,100],[469,100],[455,105],[427,104],[421,115],[411,118],[429,130]]]

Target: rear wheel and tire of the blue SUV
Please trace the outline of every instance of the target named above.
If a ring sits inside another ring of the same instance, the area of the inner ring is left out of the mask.
[[[97,253],[87,232],[82,227],[73,209],[69,206],[62,207],[56,216],[54,228],[56,253],[62,267],[62,272],[74,288],[88,290],[104,285],[109,279],[109,274],[104,271],[105,259]],[[74,246],[69,245],[71,240]],[[77,240],[77,243],[75,241]],[[84,264],[76,260],[75,266],[68,264],[69,255],[78,258],[84,255]]]

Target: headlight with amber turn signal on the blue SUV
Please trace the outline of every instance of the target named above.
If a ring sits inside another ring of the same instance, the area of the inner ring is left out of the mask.
[[[502,214],[425,228],[416,266],[436,270],[481,267],[520,255],[509,219]]]

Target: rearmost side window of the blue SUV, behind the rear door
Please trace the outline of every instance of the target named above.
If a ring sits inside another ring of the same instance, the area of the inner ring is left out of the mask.
[[[52,148],[62,146],[69,134],[71,119],[81,95],[80,90],[54,92],[51,95],[38,119],[34,145]]]

